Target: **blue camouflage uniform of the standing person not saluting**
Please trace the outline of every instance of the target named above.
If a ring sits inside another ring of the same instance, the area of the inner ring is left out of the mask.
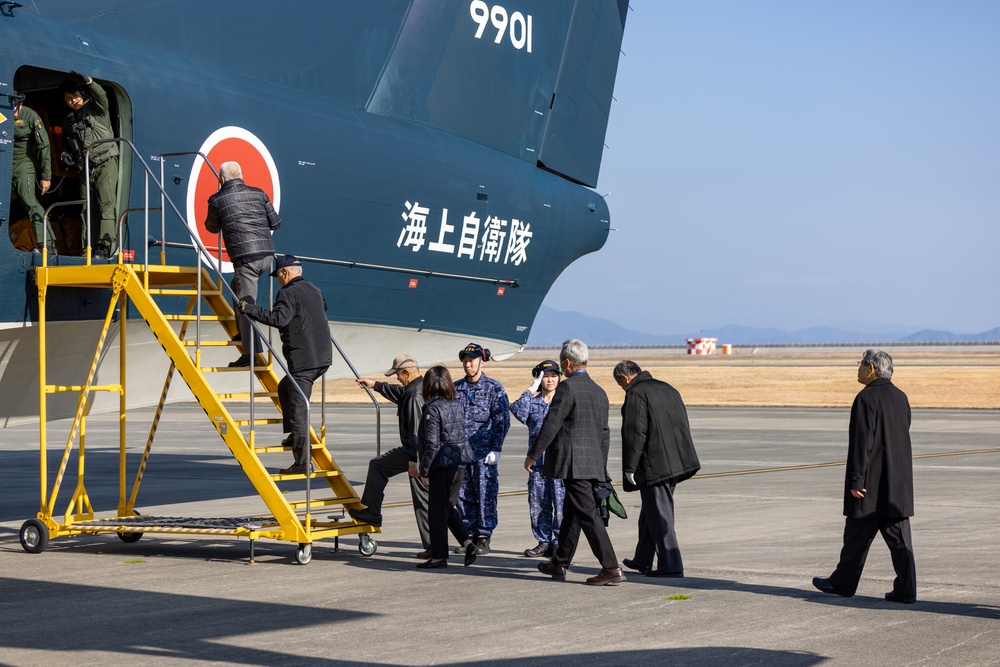
[[[500,452],[510,429],[507,392],[493,378],[482,375],[478,382],[462,378],[455,383],[455,400],[465,411],[465,434],[475,459],[465,466],[465,481],[459,505],[465,513],[469,533],[490,537],[497,527],[497,466],[486,465],[490,452]]]

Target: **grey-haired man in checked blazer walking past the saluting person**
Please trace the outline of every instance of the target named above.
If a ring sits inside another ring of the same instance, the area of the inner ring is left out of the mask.
[[[614,586],[625,581],[625,575],[594,499],[594,483],[608,480],[608,395],[587,374],[588,356],[583,341],[563,343],[559,367],[566,379],[556,388],[542,430],[524,459],[524,469],[530,473],[531,466],[546,452],[545,475],[563,480],[566,489],[559,547],[552,560],[538,564],[539,571],[555,579],[565,578],[583,531],[601,563],[600,573],[587,583]]]

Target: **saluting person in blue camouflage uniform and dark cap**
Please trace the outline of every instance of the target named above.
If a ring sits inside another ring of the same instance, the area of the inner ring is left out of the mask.
[[[535,444],[538,433],[542,430],[542,422],[545,421],[549,404],[559,386],[559,373],[559,364],[551,359],[538,364],[531,369],[531,375],[535,378],[531,387],[521,394],[521,398],[510,404],[510,413],[528,427],[528,449]],[[559,541],[559,524],[562,522],[566,490],[561,479],[553,479],[545,474],[544,464],[545,454],[542,454],[528,473],[528,515],[531,518],[531,533],[538,541],[534,547],[524,550],[524,555],[528,557],[552,558]]]

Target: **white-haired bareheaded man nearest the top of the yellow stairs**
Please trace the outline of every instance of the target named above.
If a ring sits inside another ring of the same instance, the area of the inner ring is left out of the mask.
[[[243,169],[238,162],[223,162],[219,180],[222,187],[208,198],[205,229],[213,234],[222,231],[226,252],[233,263],[229,285],[236,298],[249,296],[256,301],[257,282],[271,268],[274,257],[271,232],[281,226],[281,218],[263,190],[243,182]],[[229,365],[249,366],[250,355],[259,352],[260,346],[250,345],[253,328],[245,317],[239,318],[239,328],[243,354]]]

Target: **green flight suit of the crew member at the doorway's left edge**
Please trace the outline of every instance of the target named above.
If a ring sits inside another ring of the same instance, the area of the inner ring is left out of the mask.
[[[55,241],[52,226],[45,222],[45,209],[38,202],[37,181],[52,180],[52,154],[49,152],[49,133],[42,119],[32,109],[22,106],[14,119],[14,169],[11,178],[12,199],[20,200],[28,209],[28,217],[35,229],[35,239],[42,244],[42,230],[48,244]]]

